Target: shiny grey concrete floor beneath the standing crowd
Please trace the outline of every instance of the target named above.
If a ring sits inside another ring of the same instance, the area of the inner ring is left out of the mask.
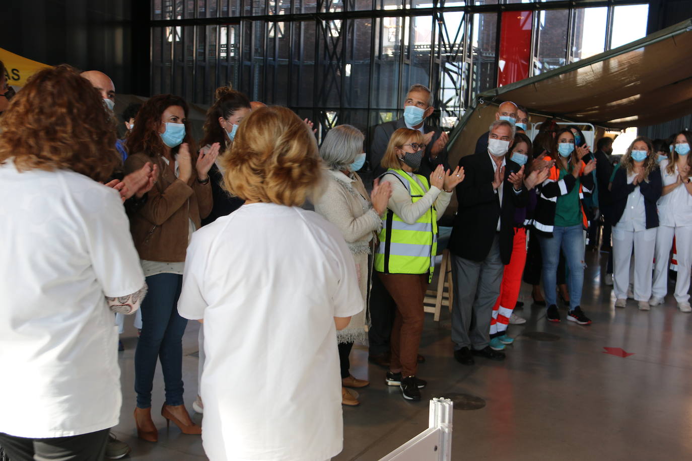
[[[419,376],[428,380],[428,387],[421,402],[407,402],[398,388],[385,386],[385,370],[368,364],[367,349],[356,346],[352,374],[370,379],[371,385],[361,390],[361,406],[344,408],[344,450],[334,460],[378,460],[426,429],[429,398],[459,395],[480,397],[485,406],[454,411],[453,460],[692,459],[692,315],[679,312],[672,295],[650,312],[640,312],[631,300],[627,308],[615,310],[611,289],[600,280],[606,256],[587,255],[582,306],[592,326],[565,321],[565,308],[562,323],[547,322],[543,308],[531,307],[525,286],[520,299],[529,302],[517,313],[528,322],[510,327],[516,341],[507,348],[504,362],[458,364],[448,312],[439,323],[426,314],[421,354],[427,361],[419,367]],[[120,352],[122,416],[113,431],[130,444],[134,460],[206,459],[201,439],[173,426],[167,430],[158,411],[152,412],[161,428],[158,443],[136,438],[131,389],[137,340],[131,320],[126,323],[126,350]],[[197,322],[190,322],[183,339],[190,410],[197,393],[197,328]],[[531,332],[558,338],[523,336]],[[604,348],[633,355],[608,355]],[[160,370],[154,396],[158,410],[163,404]],[[199,422],[201,415],[193,419]]]

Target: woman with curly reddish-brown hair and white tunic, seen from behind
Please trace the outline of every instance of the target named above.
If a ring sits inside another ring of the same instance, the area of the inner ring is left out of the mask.
[[[100,460],[120,416],[113,312],[146,292],[98,91],[70,66],[39,71],[0,119],[0,445],[13,460]],[[11,216],[11,218],[10,218]]]

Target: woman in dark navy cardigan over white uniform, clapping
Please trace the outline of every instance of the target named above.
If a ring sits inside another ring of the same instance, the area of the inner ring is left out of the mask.
[[[624,308],[630,285],[630,258],[635,251],[634,292],[639,310],[649,310],[651,271],[659,224],[656,201],[661,196],[661,174],[651,140],[639,136],[623,156],[610,185],[612,205],[613,291],[615,307]]]

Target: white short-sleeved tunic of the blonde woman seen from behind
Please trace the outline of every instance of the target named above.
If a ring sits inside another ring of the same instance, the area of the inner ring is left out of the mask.
[[[204,319],[202,441],[210,460],[337,455],[334,317],[363,307],[343,236],[313,211],[243,205],[195,232],[178,311]]]

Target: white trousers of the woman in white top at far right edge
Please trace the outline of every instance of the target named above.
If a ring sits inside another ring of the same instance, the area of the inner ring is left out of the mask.
[[[668,294],[668,256],[675,236],[677,281],[675,301],[686,303],[690,299],[690,272],[692,268],[692,226],[659,226],[656,234],[656,265],[653,274],[653,295],[663,298]]]

